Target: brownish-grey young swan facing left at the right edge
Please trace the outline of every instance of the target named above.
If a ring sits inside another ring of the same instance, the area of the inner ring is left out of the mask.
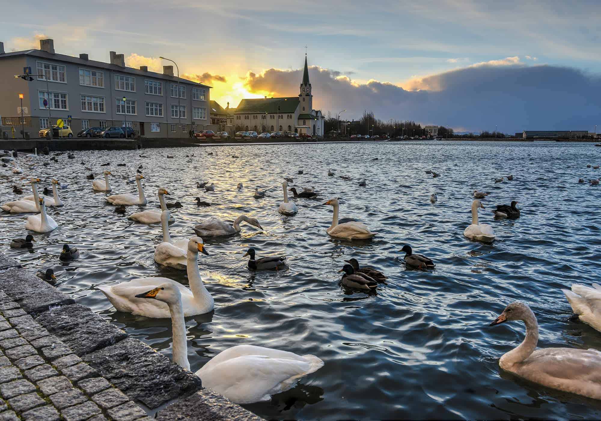
[[[505,371],[552,389],[601,399],[601,352],[578,348],[543,348],[536,350],[538,323],[530,307],[511,303],[493,321],[495,326],[505,321],[522,320],[526,338],[522,344],[499,360]]]

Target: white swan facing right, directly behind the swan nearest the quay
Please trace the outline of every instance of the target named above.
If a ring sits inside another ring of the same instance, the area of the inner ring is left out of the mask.
[[[144,277],[130,280],[118,285],[102,285],[98,289],[106,295],[117,311],[132,313],[145,317],[169,317],[169,307],[158,300],[146,300],[136,295],[158,285],[169,283],[180,290],[182,294],[183,312],[186,317],[208,313],[213,310],[213,297],[207,291],[198,270],[198,252],[208,255],[203,245],[203,239],[192,237],[188,241],[188,282],[190,289],[175,280],[166,277]]]

